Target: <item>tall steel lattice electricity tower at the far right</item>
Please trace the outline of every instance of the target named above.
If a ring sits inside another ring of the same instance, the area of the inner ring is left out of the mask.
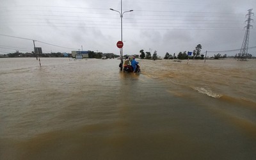
[[[250,27],[252,27],[252,25],[250,23],[253,20],[251,18],[251,15],[254,15],[254,13],[252,13],[252,9],[248,10],[248,13],[246,14],[246,17],[248,17],[248,19],[245,20],[245,22],[247,22],[247,25],[244,27],[244,28],[246,28],[246,31],[245,31],[245,34],[244,34],[244,40],[243,40],[242,47],[241,47],[240,52],[238,54],[238,58],[241,61],[246,61],[246,58],[248,56],[248,44],[249,44]]]

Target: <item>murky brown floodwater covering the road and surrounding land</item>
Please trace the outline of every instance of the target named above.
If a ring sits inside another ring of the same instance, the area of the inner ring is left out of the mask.
[[[256,159],[256,60],[0,59],[0,159]]]

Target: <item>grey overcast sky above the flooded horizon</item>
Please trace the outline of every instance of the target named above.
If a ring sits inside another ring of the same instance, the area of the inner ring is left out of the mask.
[[[83,51],[119,54],[121,0],[0,0],[0,54]],[[164,56],[240,49],[248,10],[255,0],[123,0],[124,54],[140,50]],[[252,16],[252,19],[256,19]],[[256,21],[255,21],[256,22]],[[256,56],[256,23],[248,52]],[[6,35],[6,36],[4,36]],[[16,37],[16,38],[15,38]],[[220,52],[232,56],[239,51]],[[209,52],[209,55],[218,52]]]

